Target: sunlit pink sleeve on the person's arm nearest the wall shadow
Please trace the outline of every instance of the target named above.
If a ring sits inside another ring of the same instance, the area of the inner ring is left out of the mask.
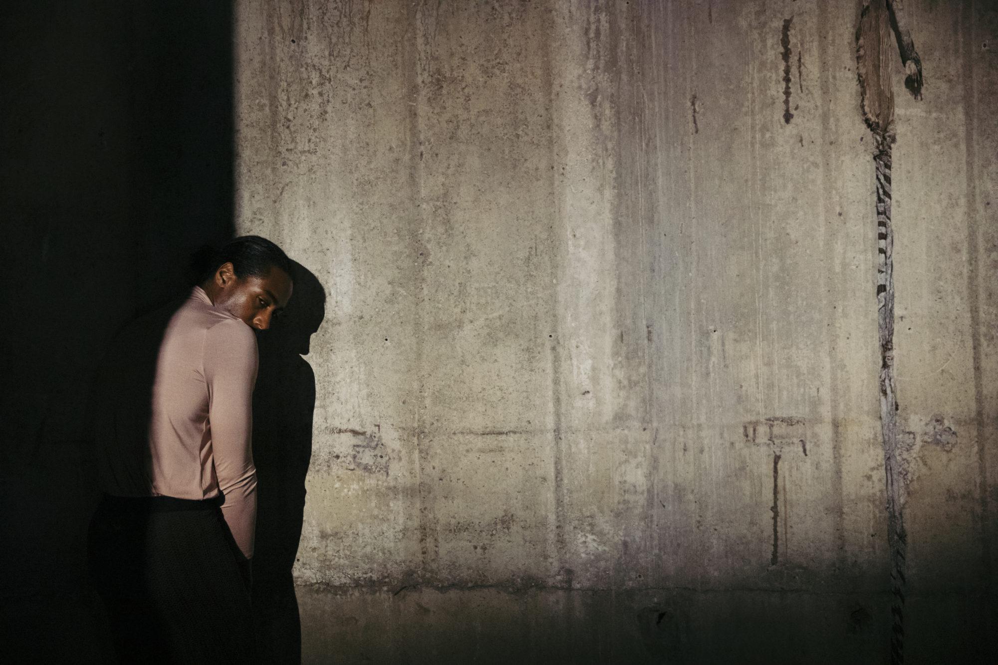
[[[256,337],[242,321],[222,322],[207,331],[203,357],[212,453],[225,497],[222,511],[237,544],[250,558],[256,522],[256,468],[250,440]]]

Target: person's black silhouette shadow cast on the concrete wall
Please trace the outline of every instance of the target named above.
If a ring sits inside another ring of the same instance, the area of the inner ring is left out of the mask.
[[[325,317],[325,291],[293,264],[294,292],[268,331],[257,334],[253,392],[256,544],[252,603],[263,663],[301,661],[301,621],[291,569],[298,551],[311,460],[315,374],[301,357]]]

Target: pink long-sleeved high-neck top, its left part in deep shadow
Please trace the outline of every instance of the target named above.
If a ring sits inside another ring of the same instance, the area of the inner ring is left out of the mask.
[[[116,496],[209,499],[252,556],[256,337],[200,287],[177,309],[119,335],[99,379],[95,434],[103,488]],[[151,389],[150,389],[151,388]]]

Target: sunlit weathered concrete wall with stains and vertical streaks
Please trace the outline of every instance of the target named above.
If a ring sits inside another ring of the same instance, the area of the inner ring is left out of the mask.
[[[995,621],[998,16],[906,8],[905,653],[972,662]],[[236,226],[329,294],[307,662],[883,662],[858,11],[238,4]]]

